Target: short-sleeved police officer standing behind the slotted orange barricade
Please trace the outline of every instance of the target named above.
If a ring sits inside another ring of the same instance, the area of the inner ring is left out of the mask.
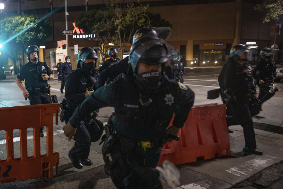
[[[46,63],[38,61],[39,53],[36,45],[30,45],[26,49],[27,58],[29,60],[24,66],[22,66],[16,83],[18,87],[23,91],[25,98],[29,98],[29,104],[49,104],[49,88],[47,87],[47,80],[53,79],[51,69]],[[22,81],[24,81],[24,85]],[[43,135],[43,128],[40,128],[40,136]]]

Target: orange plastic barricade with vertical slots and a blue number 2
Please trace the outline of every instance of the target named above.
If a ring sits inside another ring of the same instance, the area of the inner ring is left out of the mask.
[[[53,114],[58,124],[59,104],[0,108],[0,130],[6,131],[7,159],[0,160],[0,183],[58,175],[59,153],[53,153]],[[47,151],[40,154],[40,127],[47,128]],[[33,128],[34,155],[27,155],[27,128]],[[20,131],[21,157],[14,158],[13,130]]]

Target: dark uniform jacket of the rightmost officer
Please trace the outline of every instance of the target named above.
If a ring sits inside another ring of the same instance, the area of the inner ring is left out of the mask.
[[[258,74],[256,72],[258,71]],[[273,61],[266,61],[261,59],[259,63],[256,64],[256,67],[253,71],[254,79],[266,81],[265,78],[272,79],[276,77],[276,65]]]

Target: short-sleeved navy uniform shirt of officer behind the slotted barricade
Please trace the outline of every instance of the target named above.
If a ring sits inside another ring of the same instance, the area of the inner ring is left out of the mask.
[[[22,66],[17,78],[21,81],[25,80],[24,85],[26,87],[42,88],[47,86],[47,81],[44,81],[41,77],[42,74],[52,74],[52,71],[47,64],[40,61],[34,64],[29,61]]]

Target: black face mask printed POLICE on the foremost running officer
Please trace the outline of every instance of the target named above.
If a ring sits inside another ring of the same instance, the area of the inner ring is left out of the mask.
[[[162,74],[160,71],[147,71],[136,74],[136,81],[150,89],[158,89],[161,85]]]

